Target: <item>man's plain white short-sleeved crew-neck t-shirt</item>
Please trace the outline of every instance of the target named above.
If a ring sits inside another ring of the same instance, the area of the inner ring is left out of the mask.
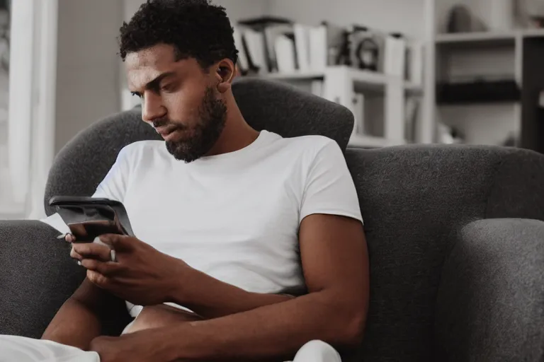
[[[246,148],[192,163],[175,160],[164,141],[139,141],[120,151],[94,197],[123,202],[145,243],[256,293],[304,291],[303,218],[362,221],[344,155],[323,136],[262,131]]]

